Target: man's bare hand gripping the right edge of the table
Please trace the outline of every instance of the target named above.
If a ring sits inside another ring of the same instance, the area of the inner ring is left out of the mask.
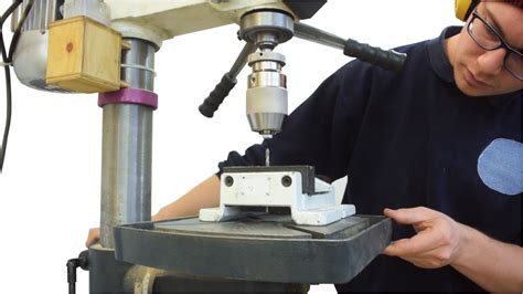
[[[425,207],[385,209],[384,214],[397,223],[412,224],[417,234],[401,239],[383,251],[402,258],[416,266],[437,269],[453,262],[459,255],[462,224],[450,217]]]

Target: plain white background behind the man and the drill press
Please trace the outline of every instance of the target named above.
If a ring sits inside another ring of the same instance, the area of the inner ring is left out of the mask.
[[[0,9],[10,2],[2,0]],[[459,24],[453,0],[330,0],[305,22],[385,49]],[[157,54],[153,213],[215,172],[230,150],[242,153],[260,140],[245,117],[247,69],[213,119],[198,112],[243,48],[236,31],[237,25],[227,25],[178,36]],[[297,39],[277,51],[287,56],[290,109],[350,60]],[[15,77],[12,84],[12,126],[0,176],[0,293],[67,293],[65,263],[84,250],[88,229],[99,223],[102,109],[96,95],[38,92]],[[4,107],[2,76],[2,130]],[[78,271],[77,293],[88,293],[88,274]],[[335,290],[320,285],[311,292]]]

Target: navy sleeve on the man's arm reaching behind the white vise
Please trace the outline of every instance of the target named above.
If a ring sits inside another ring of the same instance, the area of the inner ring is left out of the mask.
[[[232,151],[218,164],[263,166],[265,148],[270,148],[273,166],[309,165],[316,174],[337,180],[348,172],[357,132],[365,113],[372,84],[372,66],[353,61],[328,77],[287,118],[284,130],[253,145],[242,156]]]

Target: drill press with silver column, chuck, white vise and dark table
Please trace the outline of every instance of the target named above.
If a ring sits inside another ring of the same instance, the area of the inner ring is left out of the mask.
[[[75,7],[73,3],[103,4],[98,0],[65,2],[70,8]],[[92,292],[161,292],[161,277],[179,281],[171,287],[178,291],[191,279],[198,280],[199,285],[209,279],[235,281],[235,285],[246,287],[222,290],[241,291],[281,291],[281,284],[344,283],[388,244],[389,220],[353,216],[354,207],[337,204],[332,186],[316,178],[313,167],[270,166],[269,149],[264,167],[224,170],[218,208],[202,210],[200,218],[148,222],[152,113],[158,103],[153,63],[162,41],[238,23],[238,36],[246,44],[200,111],[213,116],[248,64],[252,74],[247,118],[254,132],[270,139],[285,127],[288,113],[286,76],[281,73],[285,56],[275,51],[278,44],[298,36],[392,70],[399,70],[405,61],[396,52],[344,40],[299,22],[312,17],[324,2],[105,1],[111,12],[107,21],[126,43],[117,65],[128,88],[99,96],[104,108],[102,235],[100,244],[89,249]],[[46,52],[50,22],[67,14],[62,15],[58,9],[64,1],[39,3],[39,9],[31,12],[32,21],[22,30],[14,67],[19,80],[29,86],[64,92],[67,88],[45,80],[43,69],[50,65],[46,54],[33,53],[36,49]],[[273,208],[285,208],[289,213],[267,213]],[[203,284],[207,291],[220,290],[213,282]],[[194,286],[188,291],[198,288]]]

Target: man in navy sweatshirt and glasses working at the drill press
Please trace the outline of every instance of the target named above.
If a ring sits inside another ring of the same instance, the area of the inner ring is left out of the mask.
[[[264,165],[270,147],[273,165],[349,175],[344,202],[398,223],[385,255],[338,291],[522,292],[521,191],[491,189],[477,170],[497,139],[522,140],[522,4],[481,1],[463,29],[398,49],[408,54],[401,74],[349,63],[281,134],[220,169]],[[153,220],[216,207],[218,191],[212,176]]]

